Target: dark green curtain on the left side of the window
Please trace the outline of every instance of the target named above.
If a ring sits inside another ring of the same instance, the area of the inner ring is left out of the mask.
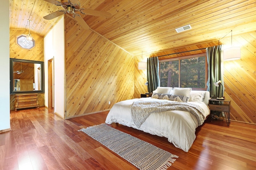
[[[158,57],[150,57],[147,60],[147,79],[148,79],[148,92],[156,90],[160,85],[159,79],[159,60]]]

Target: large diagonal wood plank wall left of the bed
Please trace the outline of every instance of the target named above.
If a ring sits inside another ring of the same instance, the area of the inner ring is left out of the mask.
[[[70,18],[65,17],[65,25],[65,118],[108,110],[133,98],[134,57]]]

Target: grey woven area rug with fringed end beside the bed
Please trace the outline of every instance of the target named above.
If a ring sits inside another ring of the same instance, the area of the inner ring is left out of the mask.
[[[140,170],[165,170],[178,156],[105,123],[81,129]]]

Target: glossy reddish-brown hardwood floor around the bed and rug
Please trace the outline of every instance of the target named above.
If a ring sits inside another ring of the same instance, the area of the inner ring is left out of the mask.
[[[44,107],[11,111],[12,131],[0,133],[0,170],[136,170],[85,133],[104,123],[108,111],[64,120]],[[220,123],[215,125],[214,123]],[[179,156],[172,170],[253,170],[256,125],[206,122],[198,127],[189,152],[164,137],[112,123],[112,127]]]

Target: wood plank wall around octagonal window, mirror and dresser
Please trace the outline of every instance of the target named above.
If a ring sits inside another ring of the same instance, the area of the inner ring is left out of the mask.
[[[20,35],[28,35],[28,31],[23,29],[10,29],[10,58],[24,59],[34,61],[44,61],[44,38],[31,33],[35,40],[36,46],[30,50],[22,49],[15,43],[16,37]],[[38,95],[39,105],[44,106],[44,93]],[[10,109],[14,109],[15,95],[10,95]]]

